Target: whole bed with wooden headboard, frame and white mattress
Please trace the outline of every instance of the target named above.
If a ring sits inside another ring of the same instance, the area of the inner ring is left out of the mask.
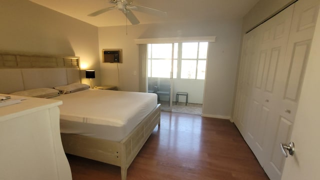
[[[80,83],[80,73],[76,56],[0,52],[0,81],[5,84],[0,86],[0,93]],[[126,101],[129,97],[132,99]],[[88,88],[52,98],[63,101],[59,108],[64,151],[119,166],[122,180],[154,127],[160,124],[160,104],[152,93]],[[117,115],[120,122],[115,120]]]

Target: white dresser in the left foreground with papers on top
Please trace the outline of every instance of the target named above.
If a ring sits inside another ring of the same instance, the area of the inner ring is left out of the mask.
[[[0,179],[72,179],[60,137],[60,104],[26,97],[0,107]]]

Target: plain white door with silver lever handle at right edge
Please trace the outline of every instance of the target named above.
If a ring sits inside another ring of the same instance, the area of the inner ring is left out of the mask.
[[[295,143],[293,156],[285,160],[281,179],[320,179],[320,16],[318,14],[312,47],[301,88],[290,141]]]

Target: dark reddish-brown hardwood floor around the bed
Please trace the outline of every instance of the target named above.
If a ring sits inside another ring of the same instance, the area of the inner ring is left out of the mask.
[[[120,167],[67,155],[73,180],[121,179]],[[161,112],[127,179],[269,179],[228,120]]]

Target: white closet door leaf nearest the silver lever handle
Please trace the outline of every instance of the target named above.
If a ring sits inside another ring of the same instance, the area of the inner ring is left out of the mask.
[[[295,3],[287,51],[282,68],[275,116],[267,126],[274,136],[268,145],[264,170],[270,179],[280,179],[285,157],[279,144],[290,140],[298,105],[305,66],[318,14],[319,0],[299,0]],[[267,139],[269,137],[265,137]]]

